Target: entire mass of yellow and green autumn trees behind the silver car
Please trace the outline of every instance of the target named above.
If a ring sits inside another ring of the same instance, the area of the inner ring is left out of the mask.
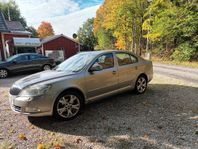
[[[196,0],[104,0],[94,19],[97,48],[197,61],[197,6]]]

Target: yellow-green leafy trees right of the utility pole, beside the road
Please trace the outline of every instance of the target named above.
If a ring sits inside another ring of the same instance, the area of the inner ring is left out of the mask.
[[[160,49],[162,57],[190,60],[198,51],[197,14],[198,5],[194,0],[153,0],[145,13],[143,30],[149,33],[144,37],[148,36],[154,48]]]

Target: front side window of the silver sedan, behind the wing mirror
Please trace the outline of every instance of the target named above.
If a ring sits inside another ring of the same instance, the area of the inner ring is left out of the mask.
[[[96,63],[101,65],[103,67],[103,69],[108,69],[108,68],[114,67],[113,54],[108,53],[108,54],[104,54],[104,55],[100,56],[94,62],[94,64],[96,64]]]

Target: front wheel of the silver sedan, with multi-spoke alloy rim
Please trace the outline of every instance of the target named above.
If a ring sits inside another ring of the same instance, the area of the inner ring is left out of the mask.
[[[55,101],[53,116],[60,120],[71,120],[82,111],[83,98],[74,91],[62,93]]]

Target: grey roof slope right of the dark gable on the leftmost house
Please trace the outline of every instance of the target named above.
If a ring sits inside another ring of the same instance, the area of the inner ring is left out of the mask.
[[[25,31],[25,28],[19,21],[6,21],[6,24],[10,31]]]

